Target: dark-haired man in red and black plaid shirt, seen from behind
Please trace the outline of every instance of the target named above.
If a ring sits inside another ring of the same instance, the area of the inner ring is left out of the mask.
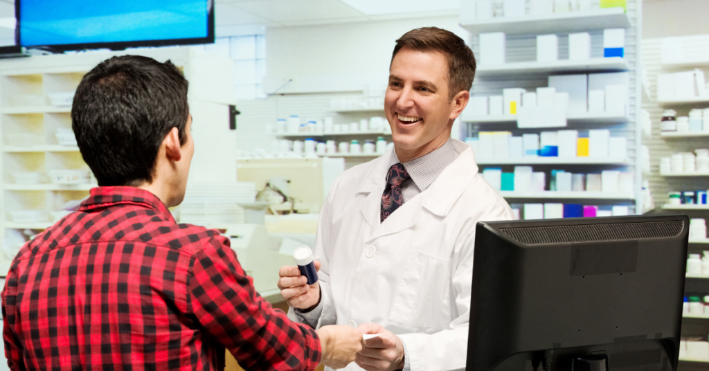
[[[99,181],[79,211],[27,243],[2,293],[12,370],[342,367],[347,326],[313,331],[254,291],[227,238],[175,223],[194,153],[187,81],[171,62],[101,62],[74,96],[72,128]]]

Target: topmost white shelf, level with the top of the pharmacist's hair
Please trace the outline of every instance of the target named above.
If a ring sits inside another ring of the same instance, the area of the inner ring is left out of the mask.
[[[486,32],[519,33],[573,33],[602,28],[627,28],[630,20],[623,8],[593,9],[520,17],[499,17],[460,21],[461,26],[477,35]]]

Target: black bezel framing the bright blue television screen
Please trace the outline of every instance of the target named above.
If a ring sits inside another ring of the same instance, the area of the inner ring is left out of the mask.
[[[173,45],[198,45],[198,44],[213,44],[215,40],[214,32],[214,1],[207,0],[208,15],[207,15],[207,36],[204,38],[178,38],[165,40],[133,40],[133,41],[118,41],[113,43],[76,43],[76,44],[57,44],[57,45],[22,45],[21,35],[21,4],[22,0],[15,1],[15,44],[26,48],[46,50],[48,52],[61,53],[72,50],[89,50],[89,49],[110,49],[110,50],[125,50],[126,48],[150,48],[160,46]]]

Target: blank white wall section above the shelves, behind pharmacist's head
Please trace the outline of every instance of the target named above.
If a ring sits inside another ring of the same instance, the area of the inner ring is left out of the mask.
[[[267,28],[264,90],[279,93],[347,92],[386,84],[396,39],[413,28],[436,26],[468,40],[457,16],[324,26]]]

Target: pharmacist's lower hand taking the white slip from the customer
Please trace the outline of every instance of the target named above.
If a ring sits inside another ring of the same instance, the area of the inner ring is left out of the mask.
[[[362,333],[381,333],[365,341],[365,347],[354,360],[367,371],[400,370],[404,365],[403,343],[398,336],[376,323],[363,323],[357,327]]]

